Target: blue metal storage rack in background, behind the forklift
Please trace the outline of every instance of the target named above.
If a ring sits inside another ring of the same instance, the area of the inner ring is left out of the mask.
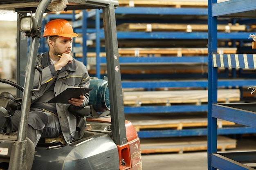
[[[115,10],[116,14],[138,14],[138,15],[207,15],[208,11],[206,9],[198,9],[198,8],[186,8],[186,9],[177,9],[177,8],[154,8],[154,7],[118,7]],[[93,33],[93,29],[90,29],[92,33],[87,36],[87,40],[96,40],[99,42],[100,39],[103,38],[103,30],[99,28],[99,16],[100,10],[91,10],[88,12],[87,17],[92,18],[94,16],[96,22],[98,23],[96,27],[97,33]],[[118,17],[117,17],[118,18]],[[123,20],[125,20],[123,18]],[[147,22],[148,20],[144,20]],[[118,23],[129,22],[119,21]],[[152,21],[151,21],[152,22]],[[161,22],[161,21],[159,21]],[[166,22],[166,20],[165,20]],[[171,21],[170,21],[171,22]],[[182,23],[182,21],[180,21]],[[183,21],[186,22],[186,21]],[[225,23],[225,21],[220,21]],[[195,23],[197,23],[195,21]],[[248,35],[252,33],[243,33],[243,32],[231,32],[231,33],[217,33],[218,38],[220,39],[229,39],[229,40],[241,40],[248,41]],[[191,40],[202,40],[208,39],[208,33],[205,32],[117,32],[117,37],[119,39],[191,39]],[[99,57],[100,49],[96,50],[97,53],[97,71],[100,71],[100,64],[105,64],[105,57]],[[208,63],[207,56],[190,56],[190,57],[119,57],[121,64],[175,64],[175,63]],[[145,76],[145,75],[141,75]],[[99,73],[97,73],[97,77],[101,77]],[[222,79],[218,83],[218,87],[243,87],[243,86],[254,86],[256,83],[256,79]],[[235,84],[235,86],[234,86]],[[207,88],[208,82],[206,79],[204,80],[184,80],[184,81],[122,81],[123,88],[181,88],[181,87],[202,87]],[[182,105],[182,106],[138,106],[138,107],[130,107],[125,106],[124,111],[126,114],[133,113],[179,113],[179,112],[205,112],[207,111],[207,105],[202,104],[200,106],[195,105]],[[220,128],[217,130],[218,135],[227,135],[227,134],[243,134],[243,133],[254,133],[256,129],[248,128],[248,127],[229,127],[229,128]],[[198,136],[198,135],[207,135],[206,128],[197,128],[197,129],[189,129],[189,130],[144,130],[138,132],[139,137],[178,137],[178,136]]]

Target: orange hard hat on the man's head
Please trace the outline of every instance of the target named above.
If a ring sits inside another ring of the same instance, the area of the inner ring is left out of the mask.
[[[58,35],[61,37],[74,38],[77,33],[74,33],[71,24],[67,20],[55,19],[49,21],[45,25],[43,37]]]

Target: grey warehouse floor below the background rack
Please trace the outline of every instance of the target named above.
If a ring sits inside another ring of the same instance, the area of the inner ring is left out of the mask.
[[[236,149],[227,152],[256,150],[256,137],[237,140]],[[159,153],[142,155],[143,170],[207,170],[207,152]]]

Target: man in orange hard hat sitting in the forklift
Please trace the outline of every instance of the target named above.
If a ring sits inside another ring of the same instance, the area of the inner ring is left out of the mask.
[[[58,137],[63,134],[66,143],[70,143],[76,131],[76,116],[69,107],[81,108],[88,104],[89,94],[71,98],[69,104],[47,103],[66,88],[89,88],[90,77],[83,63],[73,59],[72,38],[77,34],[67,20],[56,19],[45,25],[43,37],[46,38],[49,51],[37,56],[36,65],[42,72],[41,89],[32,96],[29,112],[27,137],[36,147],[40,137]],[[36,71],[34,86],[38,85],[39,72]],[[13,130],[18,130],[20,110],[12,117]]]

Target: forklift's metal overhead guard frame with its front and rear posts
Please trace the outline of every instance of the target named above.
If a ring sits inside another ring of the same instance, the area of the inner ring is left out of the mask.
[[[103,10],[103,25],[106,44],[106,62],[108,71],[108,86],[110,98],[110,112],[113,140],[116,145],[127,143],[126,127],[124,118],[124,105],[121,88],[121,74],[119,65],[119,53],[117,43],[117,30],[115,20],[115,8],[118,6],[117,0],[66,0],[65,10],[79,9],[102,9]],[[33,89],[34,73],[36,65],[36,56],[38,55],[39,39],[41,36],[43,13],[51,12],[49,9],[55,9],[58,3],[63,3],[65,0],[0,0],[0,10],[14,10],[18,13],[17,28],[20,26],[20,17],[27,13],[34,13],[33,20],[35,28],[34,32],[30,33],[29,54],[27,54],[27,36],[25,33],[17,29],[17,82],[24,84],[23,102],[21,106],[21,121],[19,125],[17,145],[13,149],[13,157],[20,157],[13,161],[13,169],[22,167],[22,151],[26,147],[27,120],[31,104],[31,95],[38,89]],[[52,8],[49,8],[49,7]],[[17,91],[17,95],[18,94]],[[24,155],[23,155],[24,156]]]

